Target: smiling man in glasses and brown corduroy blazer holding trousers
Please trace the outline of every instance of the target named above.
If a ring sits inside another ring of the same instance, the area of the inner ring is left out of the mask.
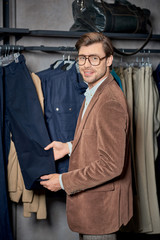
[[[67,218],[80,239],[116,239],[132,217],[129,116],[120,87],[110,74],[113,47],[102,33],[76,43],[79,70],[88,89],[73,145],[52,142],[55,160],[70,156],[69,172],[42,176],[51,191],[67,193]]]

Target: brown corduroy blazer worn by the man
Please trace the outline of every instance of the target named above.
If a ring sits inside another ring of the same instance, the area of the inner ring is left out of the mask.
[[[83,119],[82,105],[70,157],[62,175],[72,231],[109,234],[132,217],[129,115],[123,92],[110,74]]]

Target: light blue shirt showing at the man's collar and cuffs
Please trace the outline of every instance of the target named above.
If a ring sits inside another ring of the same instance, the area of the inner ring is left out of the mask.
[[[102,84],[102,82],[104,82],[105,79],[106,78],[102,79],[91,89],[87,88],[86,92],[84,93],[86,98],[85,98],[85,105],[84,105],[84,109],[83,109],[83,113],[82,113],[82,118],[83,118],[83,116],[87,110],[87,107],[88,107],[90,101],[92,100],[92,97],[94,96],[97,88]],[[72,143],[71,142],[68,142],[68,147],[69,147],[69,156],[70,156],[71,152],[72,152]],[[59,182],[60,182],[61,188],[64,190],[64,186],[63,186],[63,182],[62,182],[62,174],[59,175]]]

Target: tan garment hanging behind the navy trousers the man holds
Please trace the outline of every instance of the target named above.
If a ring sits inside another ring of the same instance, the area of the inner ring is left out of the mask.
[[[44,112],[41,81],[34,73],[31,74],[31,77],[36,87],[42,111]],[[45,189],[33,191],[25,188],[18,156],[12,140],[8,156],[8,192],[11,201],[18,203],[21,199],[24,217],[31,217],[31,213],[34,212],[37,219],[47,218]]]

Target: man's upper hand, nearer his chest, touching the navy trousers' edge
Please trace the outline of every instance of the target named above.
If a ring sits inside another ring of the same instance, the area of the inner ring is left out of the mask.
[[[53,141],[44,149],[49,150],[50,148],[53,148],[53,154],[54,154],[55,160],[58,160],[69,153],[69,147],[67,143]]]

